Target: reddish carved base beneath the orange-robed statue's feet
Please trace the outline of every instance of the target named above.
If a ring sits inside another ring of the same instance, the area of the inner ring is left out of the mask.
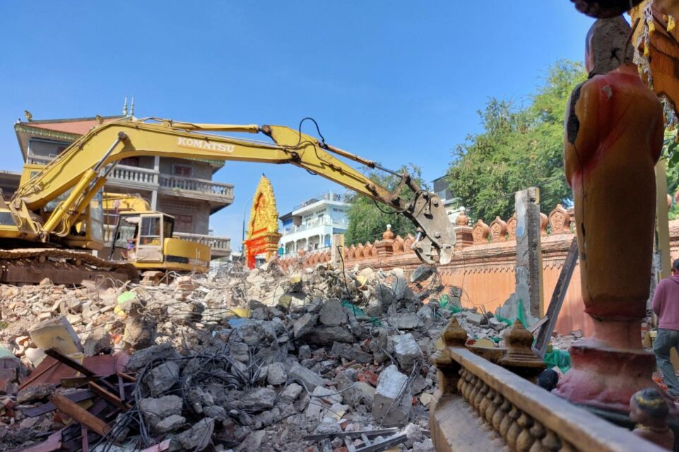
[[[584,338],[570,347],[572,368],[553,391],[572,403],[628,414],[635,392],[655,386],[655,356],[639,349],[607,347]]]

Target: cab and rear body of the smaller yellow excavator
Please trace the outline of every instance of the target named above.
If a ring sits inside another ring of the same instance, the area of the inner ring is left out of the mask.
[[[110,258],[116,251],[140,270],[207,271],[210,247],[172,237],[175,218],[160,212],[124,213],[114,231]]]

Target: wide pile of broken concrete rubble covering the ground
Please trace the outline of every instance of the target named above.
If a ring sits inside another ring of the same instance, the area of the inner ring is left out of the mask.
[[[507,331],[460,296],[427,266],[0,286],[0,451],[432,451],[442,328]]]

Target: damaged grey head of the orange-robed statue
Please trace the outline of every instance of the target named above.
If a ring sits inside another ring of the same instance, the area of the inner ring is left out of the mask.
[[[590,77],[632,63],[630,35],[632,28],[622,16],[596,20],[585,37],[585,67]]]

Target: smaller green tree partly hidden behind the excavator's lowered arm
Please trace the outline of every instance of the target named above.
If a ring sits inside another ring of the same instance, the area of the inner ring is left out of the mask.
[[[408,167],[401,167],[401,172],[407,171],[411,177],[418,182],[421,188],[429,190],[430,187],[422,180],[422,171],[412,163]],[[381,171],[368,172],[370,179],[386,189],[394,189],[400,178],[393,174]],[[403,198],[410,201],[413,193],[408,187],[403,187],[401,194]],[[346,232],[345,242],[347,245],[354,245],[365,242],[373,242],[382,238],[382,232],[386,230],[386,225],[391,225],[394,234],[401,234],[405,237],[408,232],[415,233],[413,223],[400,213],[394,211],[382,203],[376,203],[371,198],[360,194],[352,194],[349,198],[351,204],[348,212],[349,227]]]

